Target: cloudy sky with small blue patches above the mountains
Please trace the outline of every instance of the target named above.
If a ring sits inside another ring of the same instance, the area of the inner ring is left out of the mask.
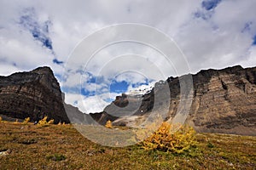
[[[182,65],[167,65],[145,44],[119,42],[69,71],[68,62],[84,38],[108,26],[135,23],[176,42],[189,65],[183,74],[252,67],[255,8],[255,0],[1,0],[0,75],[50,66],[67,103],[86,113],[102,111],[116,95],[180,76],[175,67]]]

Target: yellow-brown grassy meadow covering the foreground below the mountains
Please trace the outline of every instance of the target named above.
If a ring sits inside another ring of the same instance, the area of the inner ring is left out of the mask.
[[[0,122],[0,169],[253,169],[256,137],[198,133],[182,155],[138,145],[111,148],[85,139],[72,125]],[[255,169],[255,168],[254,168]]]

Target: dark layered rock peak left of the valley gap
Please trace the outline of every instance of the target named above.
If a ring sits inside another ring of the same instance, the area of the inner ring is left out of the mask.
[[[38,121],[44,116],[69,122],[60,85],[49,67],[0,77],[0,114]]]

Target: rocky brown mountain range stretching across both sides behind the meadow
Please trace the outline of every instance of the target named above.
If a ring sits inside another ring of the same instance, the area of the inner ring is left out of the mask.
[[[192,81],[188,77],[192,77]],[[180,88],[188,85],[193,88],[186,88],[181,94]],[[170,95],[170,100],[166,100],[166,94]],[[243,69],[237,65],[169,77],[156,82],[152,89],[137,88],[137,91],[117,96],[104,111],[90,115],[65,104],[64,98],[49,67],[0,77],[0,116],[4,119],[30,117],[38,121],[49,116],[55,123],[104,125],[110,120],[114,125],[137,127],[150,115],[167,108],[165,120],[188,112],[186,123],[198,132],[256,135],[256,67]],[[189,111],[185,106],[190,104],[184,99],[191,100]]]

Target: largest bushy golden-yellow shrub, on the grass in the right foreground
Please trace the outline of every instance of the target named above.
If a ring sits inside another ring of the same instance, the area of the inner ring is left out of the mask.
[[[174,126],[169,122],[163,122],[151,136],[141,142],[145,150],[161,150],[172,153],[183,153],[196,144],[195,130],[189,126]],[[140,138],[141,133],[138,138]]]

